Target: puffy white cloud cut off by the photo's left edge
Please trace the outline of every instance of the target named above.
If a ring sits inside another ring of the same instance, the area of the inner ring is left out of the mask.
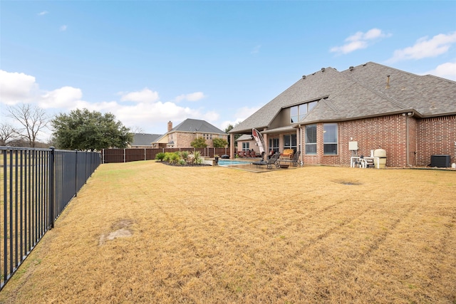
[[[0,103],[15,105],[28,103],[38,90],[35,78],[24,73],[9,73],[0,70]]]

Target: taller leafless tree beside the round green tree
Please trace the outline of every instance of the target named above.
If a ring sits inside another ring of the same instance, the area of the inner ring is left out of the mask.
[[[24,137],[30,147],[35,147],[36,135],[48,125],[46,112],[28,103],[9,107],[8,112],[9,117],[14,118],[23,126],[14,132]]]

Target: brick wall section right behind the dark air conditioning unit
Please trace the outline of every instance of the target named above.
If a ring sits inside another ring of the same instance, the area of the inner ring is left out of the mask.
[[[418,120],[417,165],[430,164],[432,154],[450,154],[456,162],[456,115]]]

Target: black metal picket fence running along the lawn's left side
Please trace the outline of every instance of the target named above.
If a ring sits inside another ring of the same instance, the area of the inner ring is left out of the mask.
[[[98,152],[0,147],[0,290],[100,163]]]

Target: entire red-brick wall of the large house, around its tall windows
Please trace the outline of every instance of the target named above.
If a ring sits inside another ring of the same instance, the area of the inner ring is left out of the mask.
[[[304,129],[301,133],[304,150]],[[304,163],[349,165],[350,141],[358,142],[358,156],[384,149],[387,167],[425,167],[432,154],[450,154],[456,162],[456,115],[419,119],[399,114],[339,122],[338,155],[323,155],[323,123],[318,123],[317,155],[304,154]]]

